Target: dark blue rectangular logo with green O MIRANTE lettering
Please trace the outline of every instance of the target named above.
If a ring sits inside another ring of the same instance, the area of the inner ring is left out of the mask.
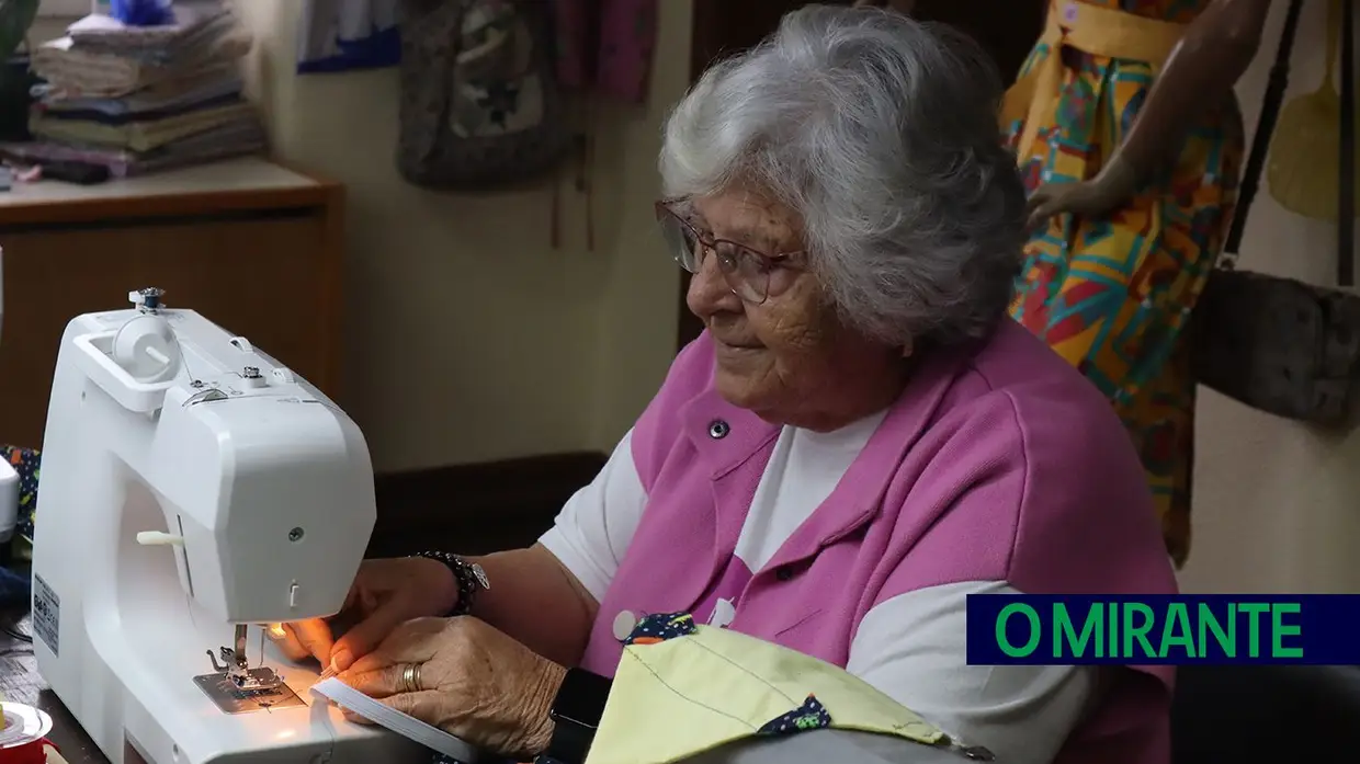
[[[1360,595],[968,595],[970,665],[1360,663]]]

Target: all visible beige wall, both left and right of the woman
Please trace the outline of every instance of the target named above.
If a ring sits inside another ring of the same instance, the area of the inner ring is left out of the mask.
[[[548,189],[479,197],[404,185],[390,160],[394,72],[295,77],[301,3],[238,1],[262,39],[254,64],[280,152],[350,184],[351,408],[378,468],[607,449],[673,349],[677,272],[656,245],[650,201],[657,129],[685,83],[690,0],[661,3],[650,106],[604,116],[594,253],[579,227],[570,246],[548,247]],[[1321,79],[1325,5],[1304,4],[1291,97]],[[1284,10],[1238,87],[1248,128]],[[1262,192],[1242,264],[1331,284],[1334,231]],[[1186,589],[1360,591],[1360,435],[1319,435],[1205,390],[1195,480]]]

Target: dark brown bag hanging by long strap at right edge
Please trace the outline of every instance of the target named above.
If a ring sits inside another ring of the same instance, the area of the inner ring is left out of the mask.
[[[1238,271],[1238,250],[1255,197],[1270,136],[1289,80],[1302,0],[1291,0],[1284,35],[1243,171],[1238,212],[1219,268],[1190,321],[1200,382],[1246,405],[1311,424],[1348,420],[1352,381],[1360,372],[1360,298],[1293,279]],[[1338,283],[1349,285],[1355,224],[1350,3],[1341,30],[1341,169],[1337,215]]]

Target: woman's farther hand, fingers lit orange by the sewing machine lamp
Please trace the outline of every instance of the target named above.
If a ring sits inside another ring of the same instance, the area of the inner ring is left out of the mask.
[[[337,672],[371,653],[389,633],[411,619],[442,616],[458,602],[458,583],[447,566],[426,557],[364,560],[337,617],[355,621],[333,639],[328,620],[284,624],[267,633],[292,661],[316,658]]]

